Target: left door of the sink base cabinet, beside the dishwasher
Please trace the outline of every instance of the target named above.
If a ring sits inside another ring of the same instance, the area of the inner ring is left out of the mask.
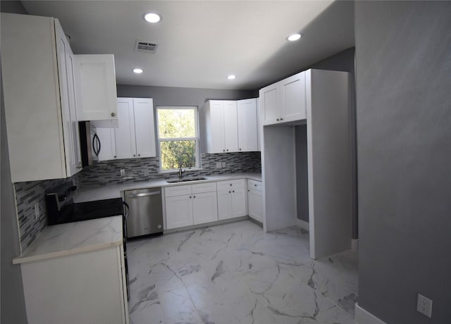
[[[192,195],[166,197],[166,229],[192,224]]]

